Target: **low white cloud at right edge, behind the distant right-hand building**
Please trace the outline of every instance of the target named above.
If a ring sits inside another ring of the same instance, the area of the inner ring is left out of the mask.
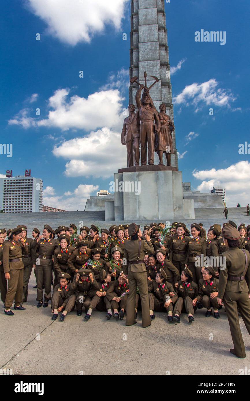
[[[236,207],[239,202],[241,206],[250,203],[250,162],[244,160],[232,164],[227,168],[216,170],[194,171],[193,176],[198,180],[203,180],[197,186],[201,192],[209,192],[213,186],[226,188],[226,203],[228,207]]]

